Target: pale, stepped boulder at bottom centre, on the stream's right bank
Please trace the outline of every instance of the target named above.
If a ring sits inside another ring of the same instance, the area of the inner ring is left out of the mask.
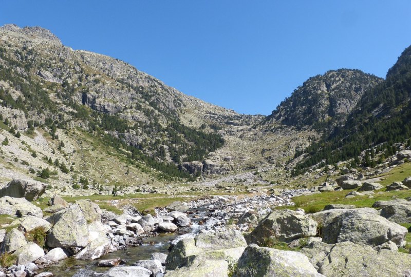
[[[180,240],[167,256],[166,270],[168,272],[180,267],[193,268],[207,261],[237,261],[246,246],[244,237],[235,229],[185,238]]]

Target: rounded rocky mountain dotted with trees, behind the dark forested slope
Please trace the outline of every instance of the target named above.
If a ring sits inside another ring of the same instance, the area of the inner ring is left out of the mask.
[[[382,79],[361,70],[330,70],[309,78],[286,98],[267,121],[317,130],[331,129],[345,122],[364,91]]]

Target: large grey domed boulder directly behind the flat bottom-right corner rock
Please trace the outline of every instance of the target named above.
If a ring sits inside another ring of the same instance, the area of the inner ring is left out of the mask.
[[[323,242],[354,242],[377,246],[388,241],[398,246],[404,241],[407,229],[364,209],[352,209],[329,218],[322,228]]]

